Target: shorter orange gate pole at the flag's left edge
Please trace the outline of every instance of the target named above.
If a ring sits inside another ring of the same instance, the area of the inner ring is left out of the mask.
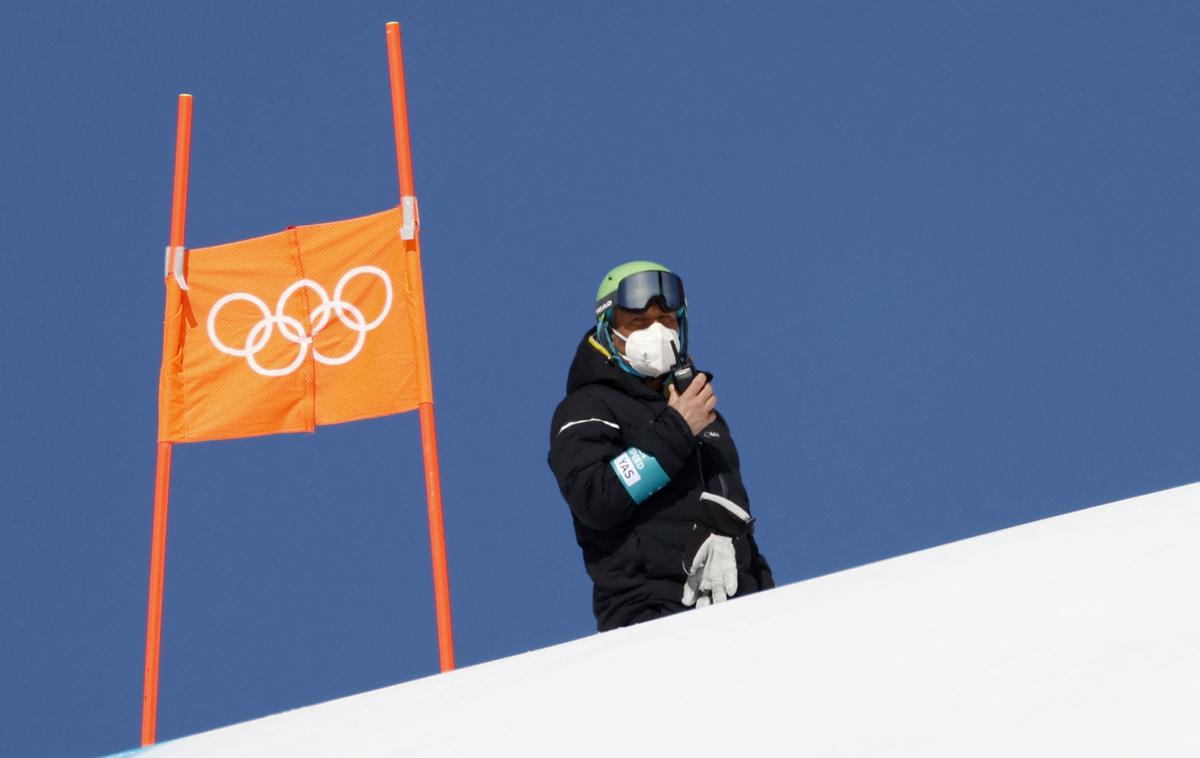
[[[179,96],[175,126],[175,184],[170,205],[170,247],[184,246],[187,219],[187,162],[192,149],[192,96]],[[168,253],[174,258],[174,253]],[[167,287],[175,287],[170,279]],[[167,511],[170,501],[170,443],[158,443],[154,479],[154,533],[150,542],[150,602],[146,612],[146,664],[142,690],[142,744],[154,745],[158,722],[158,650],[162,640],[162,586],[167,566]]]

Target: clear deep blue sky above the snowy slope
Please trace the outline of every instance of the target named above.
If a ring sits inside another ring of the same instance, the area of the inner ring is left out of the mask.
[[[594,628],[547,427],[626,259],[684,277],[781,582],[1200,480],[1194,4],[28,4],[2,752],[138,741],[178,94],[188,245],[389,207],[392,19],[461,664]],[[433,674],[428,563],[415,414],[178,446],[160,738]]]

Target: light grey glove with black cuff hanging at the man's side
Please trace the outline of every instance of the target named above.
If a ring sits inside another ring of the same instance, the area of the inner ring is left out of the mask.
[[[738,591],[738,560],[733,537],[751,531],[750,513],[728,498],[706,492],[700,495],[701,521],[684,549],[688,580],[680,602],[703,608],[725,602]]]

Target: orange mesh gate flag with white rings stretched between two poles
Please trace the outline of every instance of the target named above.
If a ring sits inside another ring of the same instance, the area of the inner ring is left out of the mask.
[[[394,207],[168,249],[158,440],[312,432],[432,402],[402,223]]]

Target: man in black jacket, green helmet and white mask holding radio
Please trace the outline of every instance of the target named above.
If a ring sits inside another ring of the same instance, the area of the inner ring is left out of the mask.
[[[665,266],[610,271],[554,410],[550,468],[600,631],[774,586],[712,375],[691,369],[686,315]]]

